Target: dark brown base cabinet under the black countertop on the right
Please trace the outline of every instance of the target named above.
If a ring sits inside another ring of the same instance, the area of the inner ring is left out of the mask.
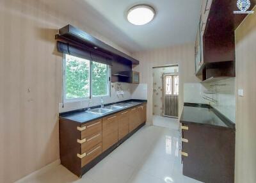
[[[207,183],[234,182],[235,132],[182,123],[183,174]]]

